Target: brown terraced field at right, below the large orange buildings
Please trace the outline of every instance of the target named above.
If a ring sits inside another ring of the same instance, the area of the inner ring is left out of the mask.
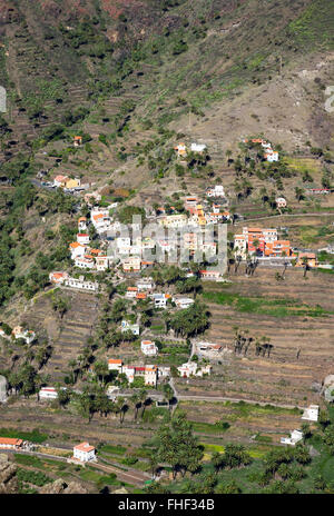
[[[277,284],[274,275],[274,269],[258,268],[255,276],[248,278],[240,270],[238,276],[232,277],[235,282],[233,287],[210,284],[206,285],[205,290],[213,292],[227,288],[252,299],[303,299],[308,307],[318,305],[328,314],[316,317],[275,317],[262,312],[261,307],[258,312],[248,312],[239,311],[235,304],[206,301],[212,312],[212,326],[205,339],[227,346],[229,353],[223,356],[220,366],[215,366],[212,377],[191,380],[189,384],[183,379],[177,380],[179,394],[226,396],[292,406],[321,403],[313,384],[322,383],[326,375],[333,373],[334,278],[315,272],[310,274],[305,280],[302,270],[293,269],[287,271],[284,284]],[[246,356],[235,356],[235,326],[248,330],[254,338],[271,338],[274,348],[269,358],[267,355],[256,356],[254,345]]]

